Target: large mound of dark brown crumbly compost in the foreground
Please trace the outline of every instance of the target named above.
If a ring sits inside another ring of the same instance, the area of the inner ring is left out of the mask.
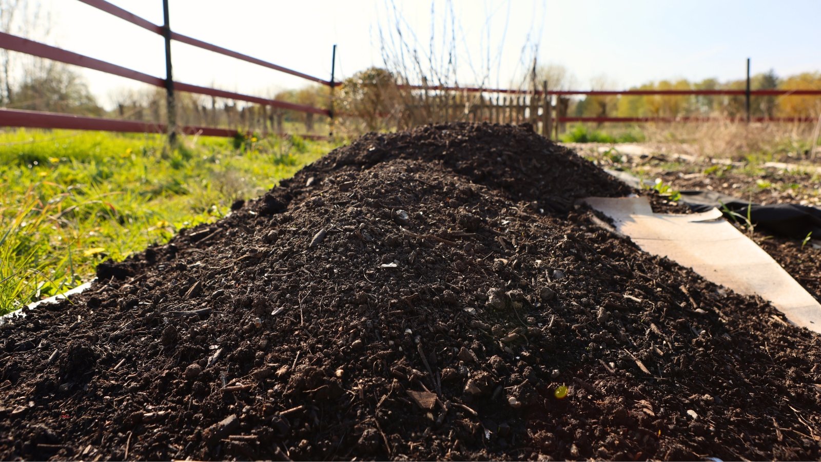
[[[0,459],[817,460],[818,338],[529,127],[369,134],[0,327]]]

